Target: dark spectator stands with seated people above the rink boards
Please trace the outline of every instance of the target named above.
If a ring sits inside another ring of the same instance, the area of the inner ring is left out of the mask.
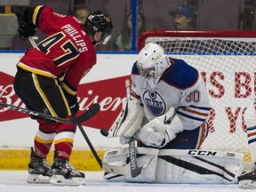
[[[31,2],[33,2],[31,0]],[[36,2],[36,1],[34,1]],[[47,0],[44,0],[44,3]],[[49,0],[49,5],[52,6]],[[101,45],[98,51],[131,51],[132,50],[132,1],[129,0],[61,0],[54,1],[55,12],[61,14],[73,14],[78,20],[84,23],[86,16],[93,11],[102,10],[108,12],[114,24],[114,34],[111,44]],[[57,2],[61,5],[58,6]],[[70,3],[71,2],[71,3]],[[150,3],[151,2],[151,3]],[[210,2],[210,3],[209,3]],[[37,1],[40,4],[40,1]],[[159,30],[254,30],[256,0],[137,0],[137,36],[152,29]],[[168,3],[168,4],[167,4]],[[220,4],[221,3],[221,4]],[[46,4],[46,3],[45,3]],[[72,5],[70,5],[72,4]],[[106,4],[102,5],[102,4]],[[116,5],[115,5],[116,4]],[[207,5],[208,4],[208,5]],[[35,3],[29,6],[36,5]],[[48,4],[47,4],[48,5]],[[54,9],[53,5],[53,9]],[[204,5],[204,6],[203,6]],[[65,7],[66,6],[66,7]],[[219,9],[218,7],[223,7]],[[9,9],[7,9],[9,7]],[[6,20],[7,15],[12,17],[10,22],[4,21],[6,28],[0,30],[0,49],[22,50],[29,46],[29,43],[20,42],[16,34],[16,28],[22,20],[22,12],[26,6],[0,6],[1,17]],[[210,7],[210,8],[209,8]],[[60,9],[61,8],[61,9]],[[112,10],[111,10],[112,9]],[[6,12],[7,10],[7,12]],[[8,11],[9,10],[9,11]],[[63,11],[62,11],[63,10]],[[204,16],[207,13],[207,16]],[[225,20],[221,15],[226,14]],[[216,16],[217,15],[217,16]],[[15,18],[13,18],[15,17]],[[15,23],[16,22],[16,23]],[[12,26],[10,26],[12,25]],[[10,28],[10,31],[8,31]],[[43,39],[44,34],[37,34],[38,39]],[[9,40],[4,41],[4,39]],[[2,44],[2,45],[1,45]],[[10,45],[8,45],[10,44]]]

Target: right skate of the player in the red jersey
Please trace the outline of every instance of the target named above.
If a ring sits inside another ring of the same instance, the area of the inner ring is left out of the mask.
[[[68,164],[68,161],[56,157],[52,164],[52,179],[50,183],[54,185],[79,186],[85,184],[83,172],[77,172],[76,169]]]

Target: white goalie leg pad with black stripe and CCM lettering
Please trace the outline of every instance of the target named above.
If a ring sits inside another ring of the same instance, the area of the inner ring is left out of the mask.
[[[156,182],[231,184],[243,171],[243,154],[207,150],[161,149]]]

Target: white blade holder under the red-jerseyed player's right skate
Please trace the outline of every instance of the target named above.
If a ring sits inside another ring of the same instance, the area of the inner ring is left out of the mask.
[[[85,184],[84,178],[74,177],[71,179],[65,179],[63,175],[53,175],[50,183],[53,185],[60,185],[60,186],[79,186]]]

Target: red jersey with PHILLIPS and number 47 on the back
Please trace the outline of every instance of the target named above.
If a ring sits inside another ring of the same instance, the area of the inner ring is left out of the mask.
[[[36,6],[32,22],[49,36],[28,49],[18,66],[65,80],[75,93],[81,78],[96,63],[96,52],[83,24],[73,16],[52,12],[49,6]]]

